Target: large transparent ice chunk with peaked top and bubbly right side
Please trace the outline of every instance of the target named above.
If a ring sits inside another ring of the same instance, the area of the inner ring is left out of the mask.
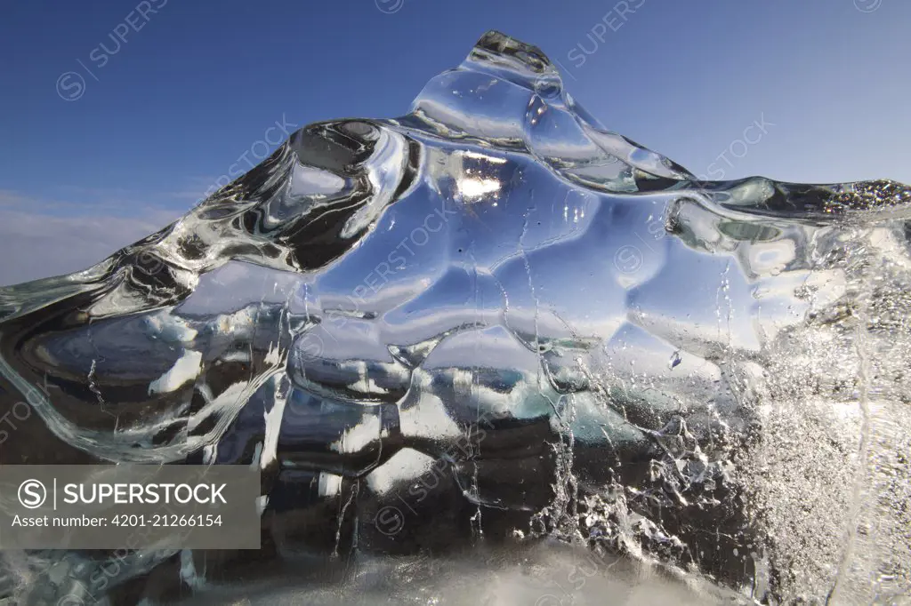
[[[97,266],[0,288],[0,402],[29,407],[2,462],[249,463],[265,497],[259,551],[129,552],[103,595],[107,552],[7,552],[5,591],[561,540],[706,596],[893,603],[909,217],[885,180],[701,182],[487,33],[406,116],[305,126]]]

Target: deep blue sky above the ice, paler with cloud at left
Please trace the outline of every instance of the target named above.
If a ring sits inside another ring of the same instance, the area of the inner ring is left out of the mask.
[[[697,175],[911,183],[909,24],[906,0],[6,2],[0,284],[163,227],[276,121],[403,114],[487,29]]]

